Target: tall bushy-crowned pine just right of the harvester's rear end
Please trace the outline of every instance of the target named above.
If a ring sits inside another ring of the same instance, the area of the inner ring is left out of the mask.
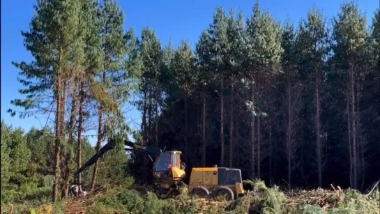
[[[281,47],[281,29],[280,25],[275,22],[268,13],[262,13],[259,10],[258,1],[254,5],[254,14],[248,21],[248,31],[250,33],[250,61],[254,67],[254,84],[252,89],[255,95],[260,99],[253,100],[252,105],[257,109],[257,176],[261,176],[261,125],[260,119],[264,116],[264,107],[260,105],[266,79],[271,78],[280,70],[280,59],[282,54]],[[253,123],[253,122],[252,122]],[[253,126],[252,126],[253,128]],[[254,136],[254,133],[252,133]],[[254,150],[252,149],[252,153]],[[253,154],[252,154],[253,155]]]

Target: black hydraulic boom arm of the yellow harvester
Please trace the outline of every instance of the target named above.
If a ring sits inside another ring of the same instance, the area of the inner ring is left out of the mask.
[[[124,145],[132,147],[132,149],[125,148],[127,151],[142,151],[144,153],[151,153],[154,155],[160,155],[162,153],[161,149],[155,148],[152,146],[144,146],[141,144],[135,144],[133,142],[124,140]],[[102,158],[102,156],[109,150],[114,149],[116,146],[116,141],[114,139],[110,140],[105,146],[100,148],[100,150],[93,155],[82,167],[80,167],[76,172],[75,172],[75,178],[77,177],[77,174],[82,173],[82,171],[86,170],[87,168],[91,167],[99,158]]]

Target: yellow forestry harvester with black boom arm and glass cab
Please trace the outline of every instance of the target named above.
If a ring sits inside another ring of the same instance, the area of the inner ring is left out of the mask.
[[[144,188],[144,190],[153,190],[160,198],[181,194],[186,189],[190,194],[195,194],[198,197],[222,196],[226,197],[227,200],[244,194],[240,169],[217,167],[216,165],[214,167],[192,168],[189,184],[186,185],[183,182],[183,178],[185,178],[185,163],[181,162],[181,151],[162,152],[158,148],[143,146],[129,141],[124,141],[124,144],[132,147],[132,149],[126,148],[126,150],[137,150],[158,155],[153,164],[153,177],[155,178],[153,183],[135,186],[135,189]],[[105,144],[96,155],[93,155],[90,160],[78,169],[76,174],[93,165],[96,160],[101,158],[106,151],[114,148],[114,146],[114,140]],[[78,195],[78,192],[73,192],[73,195]]]

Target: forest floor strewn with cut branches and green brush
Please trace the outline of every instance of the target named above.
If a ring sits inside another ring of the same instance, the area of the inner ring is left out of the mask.
[[[234,201],[195,199],[181,195],[174,199],[144,196],[126,187],[93,192],[80,199],[31,208],[22,204],[1,205],[1,213],[363,213],[380,214],[378,189],[367,194],[356,190],[292,190],[267,188],[261,181],[249,181],[251,190]]]

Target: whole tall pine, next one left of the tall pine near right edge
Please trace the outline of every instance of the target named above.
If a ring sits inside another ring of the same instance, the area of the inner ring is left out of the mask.
[[[307,111],[311,109],[311,103],[314,108],[314,114],[307,117],[314,119],[311,122],[314,123],[314,128],[311,130],[315,133],[313,140],[317,148],[318,185],[321,187],[324,165],[323,142],[321,140],[321,137],[324,136],[323,125],[321,125],[321,86],[324,83],[325,57],[328,54],[328,32],[324,17],[315,6],[307,12],[307,19],[302,20],[298,26],[296,52],[298,53],[297,60],[301,70],[301,79],[303,82],[313,83],[307,86],[308,89],[305,89],[307,92],[304,93],[304,96],[307,96],[307,100],[305,100]],[[307,132],[311,130],[309,129]]]

